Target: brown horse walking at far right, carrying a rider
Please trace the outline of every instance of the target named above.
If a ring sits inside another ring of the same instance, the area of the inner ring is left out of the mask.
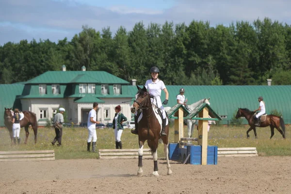
[[[247,139],[250,137],[248,132],[251,131],[252,129],[254,129],[255,137],[257,138],[256,127],[258,127],[258,126],[255,125],[254,113],[255,112],[250,111],[248,109],[239,108],[239,110],[238,110],[238,112],[237,112],[237,114],[235,116],[236,119],[240,118],[241,116],[245,117],[246,120],[248,121],[248,124],[251,126],[246,131],[246,138]],[[266,119],[264,121],[260,122],[259,127],[268,127],[268,126],[270,126],[270,128],[271,128],[271,137],[270,137],[270,139],[274,135],[274,128],[276,128],[281,133],[283,138],[285,139],[285,124],[284,124],[283,118],[281,118],[279,116],[276,116],[274,114],[268,114],[266,116]],[[283,129],[283,131],[280,129],[280,126]]]

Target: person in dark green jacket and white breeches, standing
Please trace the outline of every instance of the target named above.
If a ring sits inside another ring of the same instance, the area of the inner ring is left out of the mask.
[[[116,149],[122,149],[122,143],[121,143],[121,134],[123,131],[122,123],[124,121],[127,121],[127,118],[120,111],[121,111],[120,105],[116,106],[115,107],[115,115],[114,115],[113,122],[112,122],[114,134],[115,134],[115,148]]]

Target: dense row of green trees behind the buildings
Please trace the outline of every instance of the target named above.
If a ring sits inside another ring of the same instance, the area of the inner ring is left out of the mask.
[[[69,41],[7,42],[0,46],[0,83],[27,81],[46,71],[107,71],[144,84],[150,67],[160,68],[166,85],[291,84],[291,25],[264,18],[211,27],[143,22],[131,31],[101,32],[83,26]]]

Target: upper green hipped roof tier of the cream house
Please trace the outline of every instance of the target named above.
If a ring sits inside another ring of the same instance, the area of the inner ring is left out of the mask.
[[[98,82],[96,83],[108,83],[108,84],[129,84],[128,81],[125,81],[121,78],[118,78],[106,71],[47,71],[26,83],[28,84],[41,84],[41,83],[70,83],[78,75],[85,75],[91,78],[94,78]],[[94,82],[90,81],[90,82]]]

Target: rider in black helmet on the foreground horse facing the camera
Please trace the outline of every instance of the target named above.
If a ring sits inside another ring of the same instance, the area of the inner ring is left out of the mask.
[[[162,104],[166,105],[168,104],[168,99],[169,99],[169,93],[168,90],[164,84],[164,82],[162,80],[158,79],[160,70],[158,67],[153,66],[152,68],[150,68],[149,70],[150,74],[151,74],[151,79],[146,81],[145,87],[148,90],[148,93],[152,96],[151,97],[151,101],[154,105],[157,105],[157,108],[161,109],[162,112],[162,132],[161,132],[161,136],[166,136],[165,133],[165,127],[166,127],[166,113],[164,111],[164,108],[162,106]],[[161,101],[161,93],[162,90],[165,92],[165,96],[166,99],[162,102]],[[134,114],[134,125],[135,125],[135,129],[131,129],[131,133],[133,134],[138,134],[137,132],[137,113]]]

